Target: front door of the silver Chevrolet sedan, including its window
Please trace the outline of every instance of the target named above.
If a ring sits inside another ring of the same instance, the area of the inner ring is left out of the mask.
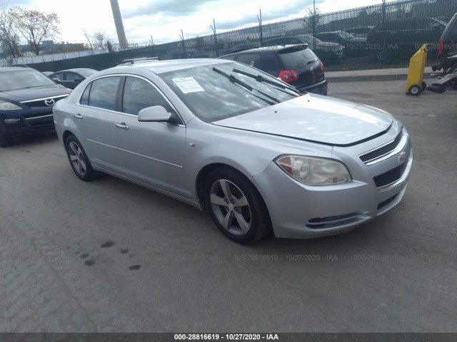
[[[186,127],[182,123],[139,122],[141,109],[161,105],[167,112],[176,109],[145,78],[127,76],[121,111],[111,142],[119,151],[124,175],[183,197],[191,197],[186,186]]]

